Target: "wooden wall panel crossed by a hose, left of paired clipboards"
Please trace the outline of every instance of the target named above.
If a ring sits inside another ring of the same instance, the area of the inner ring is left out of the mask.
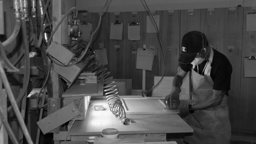
[[[96,27],[99,23],[100,15],[99,13],[93,13],[93,22],[92,27],[93,31],[95,31]],[[109,13],[103,13],[101,17],[101,23],[99,26],[99,29],[97,32],[93,35],[93,43],[91,46],[94,50],[98,49],[106,49],[107,52],[107,58],[108,58],[108,65],[105,65],[104,67],[107,68],[107,71],[109,71]],[[111,55],[112,56],[112,55]]]

